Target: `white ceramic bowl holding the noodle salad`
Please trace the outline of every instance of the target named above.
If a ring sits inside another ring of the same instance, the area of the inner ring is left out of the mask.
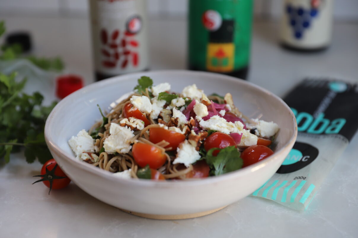
[[[180,92],[184,86],[195,83],[206,94],[231,93],[235,105],[244,114],[279,125],[275,153],[261,162],[218,177],[165,182],[122,179],[76,160],[67,144],[68,139],[79,130],[88,130],[95,120],[100,119],[96,104],[107,108],[112,101],[131,91],[142,75],[150,76],[154,84],[170,83],[173,91]],[[246,197],[276,172],[296,136],[295,116],[276,95],[230,76],[185,70],[127,74],[93,83],[61,100],[45,125],[45,139],[53,157],[78,187],[115,207],[134,213],[159,215],[154,218],[195,217]],[[170,217],[182,214],[191,215]]]

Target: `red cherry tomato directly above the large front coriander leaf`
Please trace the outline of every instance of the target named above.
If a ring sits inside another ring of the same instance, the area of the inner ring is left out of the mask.
[[[228,146],[235,146],[236,143],[234,139],[225,133],[222,132],[214,132],[213,134],[209,135],[204,142],[204,148],[206,151],[209,151],[211,148],[226,148]],[[220,150],[214,150],[213,155],[216,156]]]

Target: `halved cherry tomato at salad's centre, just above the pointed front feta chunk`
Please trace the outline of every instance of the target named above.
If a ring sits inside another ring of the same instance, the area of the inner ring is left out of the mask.
[[[176,150],[178,145],[185,140],[185,135],[179,132],[174,132],[173,130],[156,127],[149,129],[149,140],[154,144],[165,140],[169,142],[169,145],[164,148],[171,147],[170,150]]]

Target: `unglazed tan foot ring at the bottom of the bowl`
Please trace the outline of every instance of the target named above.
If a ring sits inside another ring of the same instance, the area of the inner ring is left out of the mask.
[[[227,206],[224,206],[227,207]],[[132,212],[126,209],[119,208],[123,212],[136,215],[138,217],[144,217],[149,219],[157,219],[157,220],[181,220],[181,219],[189,219],[189,218],[195,218],[195,217],[202,217],[205,215],[209,215],[211,213],[217,212],[218,210],[223,209],[224,207],[216,208],[209,211],[204,212],[197,212],[197,213],[189,213],[189,214],[179,214],[179,215],[158,215],[158,214],[147,214],[147,213],[140,213],[140,212]]]

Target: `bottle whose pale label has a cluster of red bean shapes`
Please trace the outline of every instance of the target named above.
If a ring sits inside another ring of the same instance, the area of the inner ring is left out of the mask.
[[[148,69],[146,0],[90,0],[96,80]]]

